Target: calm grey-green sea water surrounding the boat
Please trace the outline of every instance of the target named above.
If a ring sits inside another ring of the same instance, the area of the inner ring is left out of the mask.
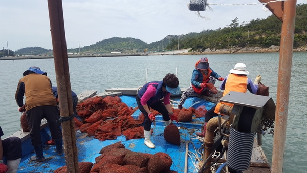
[[[72,90],[77,94],[84,90],[104,92],[108,88],[140,87],[146,81],[159,81],[167,73],[175,73],[179,85],[187,88],[190,84],[195,62],[204,55],[164,55],[134,57],[70,58],[69,69]],[[225,77],[238,62],[245,63],[252,80],[261,75],[261,82],[269,86],[270,97],[276,104],[279,53],[205,55],[210,67]],[[15,102],[17,83],[23,72],[30,66],[38,66],[48,73],[56,85],[53,59],[2,60],[0,61],[0,125],[4,137],[20,129],[20,115]],[[307,132],[307,53],[294,52],[291,74],[290,100],[287,120],[284,171],[305,172]],[[290,73],[290,72],[289,72]],[[221,82],[217,81],[216,86]],[[271,163],[273,136],[262,138],[262,148]]]

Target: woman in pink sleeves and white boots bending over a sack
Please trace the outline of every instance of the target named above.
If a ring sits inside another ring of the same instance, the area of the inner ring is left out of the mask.
[[[178,122],[170,105],[170,94],[179,95],[181,89],[179,80],[175,74],[168,73],[162,81],[152,81],[146,83],[138,92],[136,100],[140,111],[144,114],[144,143],[148,148],[155,148],[150,140],[151,124],[155,121],[155,116],[150,108],[162,114],[165,125],[169,125],[173,120]],[[163,98],[163,102],[160,100]]]

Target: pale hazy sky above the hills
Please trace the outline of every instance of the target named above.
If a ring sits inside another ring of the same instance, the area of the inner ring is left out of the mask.
[[[191,0],[195,1],[199,0]],[[297,4],[303,1],[297,0]],[[206,11],[200,11],[200,17],[188,9],[189,3],[190,0],[62,0],[67,48],[82,48],[112,37],[132,37],[150,44],[167,35],[224,28],[236,17],[242,24],[272,14],[263,10],[257,0],[207,0]],[[0,17],[0,49],[52,49],[47,0],[1,1]]]

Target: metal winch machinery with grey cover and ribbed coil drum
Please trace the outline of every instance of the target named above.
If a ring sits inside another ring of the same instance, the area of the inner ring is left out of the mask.
[[[268,96],[233,91],[222,97],[220,102],[231,103],[234,106],[222,104],[220,114],[225,116],[219,115],[218,121],[214,118],[215,120],[211,119],[212,121],[208,122],[204,141],[205,158],[210,160],[209,153],[213,150],[210,145],[214,140],[210,139],[213,138],[211,135],[213,131],[210,128],[216,129],[217,126],[220,134],[224,136],[222,143],[228,144],[226,145],[228,146],[227,165],[235,171],[247,170],[250,167],[255,134],[257,133],[258,145],[261,145],[261,135],[264,132],[261,121],[275,119],[275,103]],[[222,126],[230,128],[229,135],[222,132]],[[206,163],[206,166],[209,164],[210,161]]]

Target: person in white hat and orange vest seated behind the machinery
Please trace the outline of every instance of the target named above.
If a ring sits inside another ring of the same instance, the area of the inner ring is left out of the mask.
[[[246,70],[244,63],[235,64],[234,68],[231,69],[229,73],[230,74],[225,77],[220,86],[220,89],[224,90],[223,96],[225,96],[230,91],[246,93],[248,90],[253,94],[257,92],[258,84],[261,81],[261,76],[258,75],[253,83],[252,80],[247,77],[249,72]],[[215,106],[208,110],[205,114],[204,130],[202,132],[197,132],[197,136],[205,137],[206,125],[211,118],[218,116],[221,104],[233,106],[233,104],[230,103],[218,102]]]

